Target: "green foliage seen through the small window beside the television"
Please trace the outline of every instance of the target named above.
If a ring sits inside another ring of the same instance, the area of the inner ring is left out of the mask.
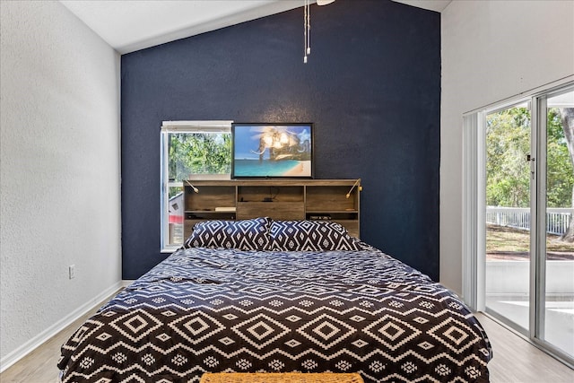
[[[181,181],[197,174],[226,174],[231,170],[231,135],[170,134],[170,179]]]

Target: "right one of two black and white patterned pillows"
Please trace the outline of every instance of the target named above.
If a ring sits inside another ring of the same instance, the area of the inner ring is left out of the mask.
[[[276,251],[361,250],[361,241],[337,222],[273,221],[271,248]]]

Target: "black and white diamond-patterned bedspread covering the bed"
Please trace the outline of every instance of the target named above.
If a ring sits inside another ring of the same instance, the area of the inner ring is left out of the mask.
[[[490,359],[455,295],[376,248],[187,248],[88,319],[58,368],[64,382],[197,382],[205,371],[488,382]]]

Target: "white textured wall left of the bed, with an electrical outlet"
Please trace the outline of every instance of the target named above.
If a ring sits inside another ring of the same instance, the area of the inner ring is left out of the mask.
[[[120,61],[59,2],[0,15],[5,369],[121,281]]]

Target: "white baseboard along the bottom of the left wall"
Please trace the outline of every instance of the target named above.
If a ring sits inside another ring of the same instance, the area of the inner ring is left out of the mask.
[[[34,336],[25,344],[22,344],[12,353],[8,353],[4,358],[0,359],[0,372],[8,369],[12,366],[16,361],[20,361],[24,356],[28,355],[32,351],[34,351],[39,345],[44,344],[54,335],[57,335],[60,331],[62,331],[66,326],[70,326],[74,321],[78,318],[82,318],[87,312],[93,309],[97,304],[99,304],[102,300],[107,299],[111,294],[117,292],[119,289],[126,287],[125,281],[120,281],[115,283],[113,286],[109,287],[104,292],[100,292],[99,295],[88,300],[85,304],[80,306],[78,309],[75,309],[65,318],[58,320],[54,325],[49,326],[46,330],[39,333],[39,335]]]

